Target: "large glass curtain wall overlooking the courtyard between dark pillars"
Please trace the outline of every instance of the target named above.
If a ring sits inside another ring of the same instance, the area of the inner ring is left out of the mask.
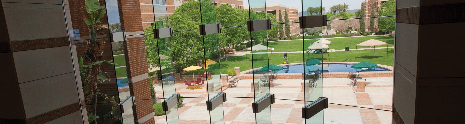
[[[145,60],[130,59],[139,54],[127,50],[140,44],[110,41],[110,33],[120,32],[144,40],[151,95],[135,101],[153,106],[156,124],[392,120],[394,0],[143,0],[136,3],[142,22],[128,20],[117,0],[88,0],[103,16],[80,8],[84,1],[64,3],[86,122],[138,121],[135,107],[120,106],[128,105],[131,90],[140,90],[126,67]],[[299,16],[319,15],[327,16],[328,26],[299,28]],[[271,20],[272,26],[247,32],[247,20]],[[216,23],[221,33],[200,34],[200,25]],[[168,27],[173,36],[156,39],[153,29]],[[359,67],[360,62],[373,66]],[[227,101],[206,111],[206,101],[220,92]],[[162,111],[161,102],[175,93],[181,101]],[[252,103],[269,93],[275,104],[252,113]],[[328,98],[329,108],[302,119],[301,108],[319,97]]]

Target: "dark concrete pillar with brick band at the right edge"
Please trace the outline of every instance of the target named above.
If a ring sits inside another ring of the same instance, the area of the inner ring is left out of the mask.
[[[465,1],[396,1],[393,124],[463,123]]]

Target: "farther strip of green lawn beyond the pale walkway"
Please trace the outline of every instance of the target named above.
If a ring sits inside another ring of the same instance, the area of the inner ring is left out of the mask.
[[[387,46],[394,46],[394,38],[389,36],[367,36],[367,37],[351,37],[351,38],[334,38],[328,39],[331,41],[331,44],[328,44],[330,49],[342,50],[345,49],[345,46],[349,46],[350,49],[355,49],[357,44],[365,42],[369,39],[377,39],[383,42],[388,43]],[[269,52],[288,52],[288,51],[305,51],[310,43],[317,41],[318,39],[306,39],[304,44],[302,44],[302,39],[299,40],[288,40],[288,41],[276,41],[268,42],[268,47],[274,48],[273,51]],[[263,44],[262,44],[263,45]],[[386,46],[379,46],[386,47]],[[368,47],[357,47],[357,48],[368,48]],[[261,51],[258,51],[261,52]],[[266,52],[266,51],[263,51]]]

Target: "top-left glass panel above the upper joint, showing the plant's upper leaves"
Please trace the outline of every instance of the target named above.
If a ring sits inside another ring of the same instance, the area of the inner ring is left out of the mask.
[[[69,40],[85,40],[85,39],[98,39],[98,38],[107,38],[109,30],[108,19],[107,19],[107,8],[105,0],[99,1],[100,7],[88,8],[89,10],[94,10],[98,13],[88,13],[86,12],[86,7],[84,6],[85,0],[64,0],[66,13],[66,24],[68,29]],[[114,4],[112,4],[114,5]],[[113,7],[112,7],[113,8]],[[112,10],[112,12],[114,12]],[[105,16],[96,16],[96,15],[105,15]],[[87,20],[87,21],[85,21]],[[93,20],[93,21],[91,21]],[[112,20],[117,22],[116,20]]]

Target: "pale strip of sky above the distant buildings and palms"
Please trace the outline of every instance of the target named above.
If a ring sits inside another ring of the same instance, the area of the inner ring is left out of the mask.
[[[263,0],[254,0],[263,1]],[[304,8],[306,7],[319,7],[322,4],[326,7],[326,12],[329,7],[337,4],[348,4],[349,10],[360,9],[360,3],[364,0],[266,0],[266,4],[282,4],[290,7],[299,8],[299,12],[302,11],[302,1],[304,2]],[[249,6],[249,0],[244,0],[244,7]]]

